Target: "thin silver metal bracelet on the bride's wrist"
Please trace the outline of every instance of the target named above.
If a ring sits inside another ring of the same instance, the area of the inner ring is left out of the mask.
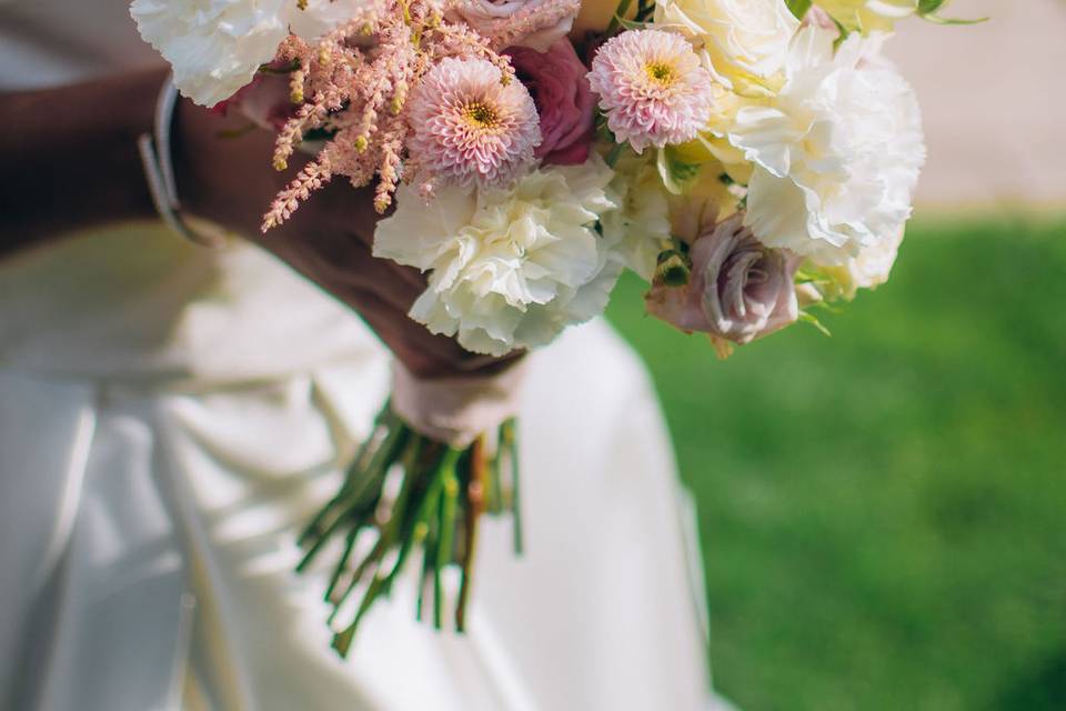
[[[178,184],[174,180],[174,163],[171,154],[170,133],[174,109],[178,106],[178,87],[173,77],[168,76],[155,100],[155,126],[153,133],[142,133],[137,139],[137,148],[144,166],[148,189],[152,193],[155,211],[172,231],[191,242],[212,249],[222,247],[225,238],[221,231],[204,226],[193,227],[182,213],[178,200]],[[199,221],[198,221],[199,222]]]

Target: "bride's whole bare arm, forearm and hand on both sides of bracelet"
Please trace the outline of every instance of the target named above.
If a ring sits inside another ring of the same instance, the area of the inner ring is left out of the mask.
[[[44,91],[0,96],[0,259],[76,230],[152,219],[155,211],[137,152],[150,129],[162,70]],[[425,288],[418,271],[371,257],[380,218],[371,190],[338,179],[285,224],[261,234],[262,216],[306,158],[271,168],[273,138],[245,131],[182,99],[173,132],[178,192],[191,213],[249,236],[360,313],[395,356],[421,377],[491,373],[521,357],[476,356],[406,318]],[[174,237],[174,239],[181,239]]]

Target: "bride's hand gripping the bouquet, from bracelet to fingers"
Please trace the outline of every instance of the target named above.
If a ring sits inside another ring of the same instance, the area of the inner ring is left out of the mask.
[[[425,279],[414,269],[371,256],[380,216],[374,212],[370,189],[355,190],[346,179],[338,179],[312,193],[289,222],[261,234],[259,227],[271,200],[306,157],[293,156],[289,170],[279,173],[271,168],[273,136],[248,128],[247,118],[222,118],[181,102],[174,160],[178,192],[190,212],[258,241],[353,308],[420,377],[487,374],[520,357],[475,356],[408,318],[411,304],[425,289]],[[224,133],[241,134],[224,138]]]

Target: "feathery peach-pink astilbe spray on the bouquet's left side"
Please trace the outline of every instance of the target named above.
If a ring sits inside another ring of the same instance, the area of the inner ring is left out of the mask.
[[[423,77],[449,58],[480,60],[482,66],[487,62],[496,70],[502,93],[512,82],[521,89],[510,59],[500,51],[513,43],[516,33],[550,26],[566,13],[575,14],[581,4],[580,0],[531,4],[529,10],[516,13],[513,22],[482,34],[462,22],[445,19],[459,1],[372,0],[350,21],[314,43],[295,36],[282,43],[273,64],[294,68],[290,74],[291,98],[301,106],[278,134],[274,168],[285,170],[293,151],[309,133],[324,136],[325,143],[278,194],[263,218],[264,231],[289,219],[301,201],[335,176],[346,177],[356,188],[376,178],[374,207],[384,212],[401,180],[419,180],[421,192],[429,197],[435,182],[462,173],[445,170],[454,168],[447,161],[456,153],[442,159],[430,151],[413,156],[409,150],[414,136],[412,97]],[[517,106],[521,101],[512,103]],[[533,136],[522,121],[509,130],[514,131],[514,150],[524,159],[526,147],[532,150],[539,132]],[[522,163],[521,159],[511,160],[512,152],[509,149],[496,153],[506,160],[496,166],[495,172],[489,170],[486,174],[500,178]]]

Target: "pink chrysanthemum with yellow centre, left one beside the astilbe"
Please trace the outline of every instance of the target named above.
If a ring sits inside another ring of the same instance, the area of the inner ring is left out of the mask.
[[[541,142],[536,106],[521,81],[484,59],[442,59],[411,93],[411,156],[425,178],[463,187],[506,184]]]

